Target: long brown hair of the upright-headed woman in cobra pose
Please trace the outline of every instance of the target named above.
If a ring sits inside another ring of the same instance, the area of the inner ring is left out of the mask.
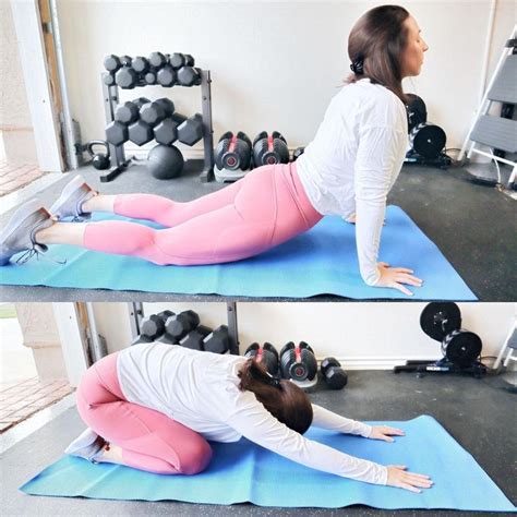
[[[348,36],[348,56],[354,83],[369,77],[390,89],[404,104],[401,57],[407,46],[409,12],[399,5],[381,5],[365,12]]]

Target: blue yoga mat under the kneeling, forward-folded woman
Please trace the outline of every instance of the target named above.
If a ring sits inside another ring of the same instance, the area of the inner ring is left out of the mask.
[[[202,504],[339,508],[446,508],[515,512],[515,506],[432,417],[383,422],[406,431],[395,443],[310,430],[308,437],[383,465],[406,465],[432,477],[434,486],[414,494],[320,472],[242,438],[214,443],[207,470],[196,476],[160,476],[122,466],[63,457],[20,490],[32,495]],[[509,469],[509,467],[508,467]]]

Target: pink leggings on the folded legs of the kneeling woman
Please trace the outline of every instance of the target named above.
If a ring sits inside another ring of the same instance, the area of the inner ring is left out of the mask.
[[[194,474],[206,468],[206,440],[154,409],[128,402],[117,375],[117,353],[97,361],[77,387],[83,421],[107,442],[122,448],[125,465],[149,472]]]

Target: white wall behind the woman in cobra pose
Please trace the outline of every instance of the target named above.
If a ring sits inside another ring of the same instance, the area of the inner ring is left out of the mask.
[[[85,141],[104,135],[105,55],[183,51],[212,71],[216,137],[230,129],[251,137],[278,129],[291,147],[306,144],[349,73],[351,26],[380,3],[60,0],[72,113]],[[479,101],[491,0],[399,3],[414,15],[430,46],[422,74],[408,80],[406,89],[424,98],[429,119],[447,133],[447,146],[460,147]],[[498,0],[490,71],[514,23],[514,2]],[[178,110],[200,110],[199,88],[139,88],[125,91],[123,99],[164,92]]]

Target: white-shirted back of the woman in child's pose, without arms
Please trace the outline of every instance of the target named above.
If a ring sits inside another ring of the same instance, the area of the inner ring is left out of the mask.
[[[135,345],[118,358],[120,386],[128,400],[156,409],[221,442],[240,435],[224,422],[243,397],[238,385],[245,358],[200,352],[160,342]]]

